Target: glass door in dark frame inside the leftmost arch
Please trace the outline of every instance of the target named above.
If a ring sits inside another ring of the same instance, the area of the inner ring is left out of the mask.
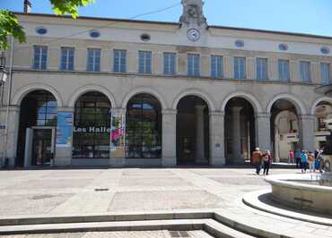
[[[52,151],[52,129],[33,129],[32,166],[49,166]]]

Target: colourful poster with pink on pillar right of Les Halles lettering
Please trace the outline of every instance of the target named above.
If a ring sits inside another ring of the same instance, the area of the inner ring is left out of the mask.
[[[125,157],[125,116],[122,114],[111,115],[110,132],[111,157]]]

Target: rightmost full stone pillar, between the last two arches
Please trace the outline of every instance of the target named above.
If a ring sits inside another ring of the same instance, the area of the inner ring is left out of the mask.
[[[302,149],[315,149],[315,115],[299,115],[300,141]]]

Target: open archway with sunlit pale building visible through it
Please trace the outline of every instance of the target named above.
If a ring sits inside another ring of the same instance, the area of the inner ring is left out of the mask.
[[[271,135],[277,162],[287,162],[290,150],[301,150],[298,115],[296,106],[288,99],[278,99],[271,106]]]

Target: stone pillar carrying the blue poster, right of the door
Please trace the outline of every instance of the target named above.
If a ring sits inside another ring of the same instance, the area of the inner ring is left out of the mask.
[[[57,108],[57,140],[54,166],[71,166],[73,154],[74,107]]]

